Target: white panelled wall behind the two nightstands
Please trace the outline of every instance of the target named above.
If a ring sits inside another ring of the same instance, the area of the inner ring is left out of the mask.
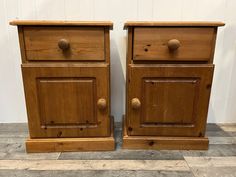
[[[208,122],[236,122],[235,0],[0,0],[0,122],[25,122],[20,53],[13,19],[111,20],[112,114],[124,113],[126,20],[215,20],[219,29]]]

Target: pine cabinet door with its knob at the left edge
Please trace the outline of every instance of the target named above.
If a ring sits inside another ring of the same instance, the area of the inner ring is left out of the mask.
[[[204,136],[213,65],[130,65],[129,135]]]

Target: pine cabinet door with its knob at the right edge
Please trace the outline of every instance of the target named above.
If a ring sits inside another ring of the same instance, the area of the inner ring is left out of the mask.
[[[109,136],[109,68],[23,65],[31,138]]]

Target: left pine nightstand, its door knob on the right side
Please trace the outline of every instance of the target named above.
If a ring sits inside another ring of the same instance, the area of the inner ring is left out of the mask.
[[[114,150],[111,22],[18,26],[30,138],[27,152]]]

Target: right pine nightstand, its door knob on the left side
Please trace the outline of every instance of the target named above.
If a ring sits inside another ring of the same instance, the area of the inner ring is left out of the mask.
[[[127,22],[123,148],[208,149],[205,128],[221,22]]]

